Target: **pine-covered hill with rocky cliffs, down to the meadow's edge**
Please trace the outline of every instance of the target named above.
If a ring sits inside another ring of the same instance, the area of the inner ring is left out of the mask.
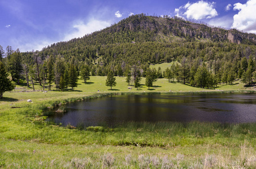
[[[54,43],[41,51],[20,52],[0,46],[0,61],[17,84],[39,83],[51,90],[76,87],[90,75],[154,76],[214,88],[241,79],[256,82],[256,35],[214,28],[178,17],[133,15],[83,38]],[[174,63],[150,69],[152,64]],[[148,84],[150,86],[150,83]]]

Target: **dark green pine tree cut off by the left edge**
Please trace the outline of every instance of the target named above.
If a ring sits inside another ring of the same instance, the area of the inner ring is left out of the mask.
[[[8,73],[5,70],[5,65],[0,61],[0,99],[6,91],[14,90],[15,85],[8,79]]]

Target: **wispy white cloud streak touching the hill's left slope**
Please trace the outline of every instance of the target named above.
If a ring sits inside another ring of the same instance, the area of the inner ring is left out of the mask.
[[[101,20],[90,20],[88,23],[84,23],[83,21],[77,21],[72,27],[72,32],[65,34],[63,41],[69,41],[73,38],[83,37],[86,34],[90,34],[97,30],[101,30],[110,26],[111,23],[107,21]]]

